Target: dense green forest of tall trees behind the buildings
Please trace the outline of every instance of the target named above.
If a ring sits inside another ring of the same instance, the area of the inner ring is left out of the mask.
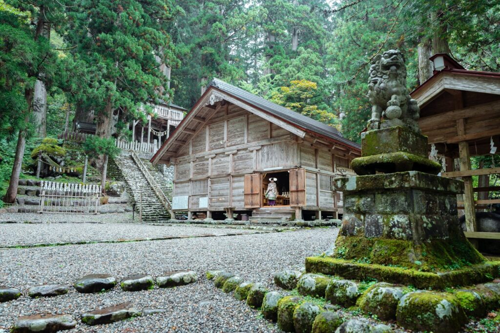
[[[498,72],[499,17],[497,0],[0,0],[0,196],[41,139],[94,115],[82,150],[102,170],[111,133],[160,99],[190,109],[212,77],[358,141],[376,54],[403,52],[409,91],[434,53]]]

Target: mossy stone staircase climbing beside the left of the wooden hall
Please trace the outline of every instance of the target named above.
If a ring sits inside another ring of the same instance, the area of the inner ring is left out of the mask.
[[[140,159],[140,161],[146,167],[147,171],[158,184],[159,188],[163,191],[168,200],[171,200],[172,187],[165,177],[149,162],[149,160]],[[133,160],[132,156],[116,156],[114,158],[114,162],[120,169],[123,178],[125,179],[128,192],[135,203],[135,211],[137,213],[139,212],[139,203],[142,202],[142,220],[148,222],[168,220],[170,218],[170,214],[161,204],[158,196],[154,192],[137,163]]]

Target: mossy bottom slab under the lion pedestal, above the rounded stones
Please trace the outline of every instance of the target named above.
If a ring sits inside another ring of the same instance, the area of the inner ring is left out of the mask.
[[[437,273],[421,272],[414,269],[390,267],[376,264],[362,264],[352,260],[330,257],[308,257],[305,269],[309,273],[338,275],[345,279],[389,282],[411,285],[419,289],[440,289],[456,286],[470,286],[490,281],[491,277],[500,277],[500,262],[484,264]]]

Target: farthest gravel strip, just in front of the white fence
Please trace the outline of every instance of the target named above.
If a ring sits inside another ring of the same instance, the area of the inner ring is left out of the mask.
[[[111,205],[109,205],[111,206]],[[125,207],[125,205],[113,205]],[[138,216],[135,214],[135,221]],[[3,223],[109,223],[132,222],[132,213],[110,214],[50,214],[50,213],[3,213],[0,214],[0,224]]]

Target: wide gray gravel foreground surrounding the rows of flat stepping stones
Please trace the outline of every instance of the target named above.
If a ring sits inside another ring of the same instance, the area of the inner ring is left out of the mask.
[[[182,228],[187,233],[187,229]],[[206,233],[206,229],[203,231]],[[109,273],[120,279],[137,273],[154,277],[164,271],[191,269],[199,276],[195,284],[174,289],[155,288],[131,293],[115,288],[108,293],[91,295],[78,294],[71,289],[67,295],[55,298],[22,296],[17,301],[0,304],[0,332],[8,329],[20,315],[49,312],[79,318],[85,311],[126,301],[138,309],[159,307],[167,312],[93,328],[78,324],[76,329],[66,332],[278,332],[276,326],[262,319],[257,311],[216,290],[203,273],[209,269],[225,269],[275,289],[272,284],[275,272],[303,266],[304,258],[324,251],[337,232],[336,228],[319,228],[229,237],[0,250],[0,284],[20,288],[23,292],[43,283],[72,284],[89,273]],[[210,303],[198,305],[202,300]]]

